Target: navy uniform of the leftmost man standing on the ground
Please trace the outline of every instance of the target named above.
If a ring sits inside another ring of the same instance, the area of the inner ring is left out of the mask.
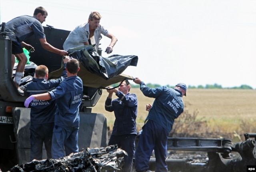
[[[24,94],[31,96],[41,94],[56,88],[60,82],[67,78],[66,64],[62,76],[58,79],[46,80],[44,78],[33,78],[27,84]],[[54,127],[54,115],[56,112],[55,100],[36,100],[30,103],[30,161],[42,160],[43,143],[47,158],[52,158],[52,130]]]

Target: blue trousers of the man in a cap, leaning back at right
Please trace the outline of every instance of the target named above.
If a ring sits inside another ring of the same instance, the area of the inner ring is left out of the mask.
[[[156,156],[155,172],[167,172],[166,152],[168,131],[152,120],[148,120],[142,128],[135,152],[135,168],[137,172],[148,170],[148,162],[154,150]]]

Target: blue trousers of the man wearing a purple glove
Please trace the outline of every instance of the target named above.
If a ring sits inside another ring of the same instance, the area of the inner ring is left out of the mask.
[[[58,159],[78,152],[78,129],[77,127],[62,128],[54,126],[52,134],[52,158]],[[65,150],[65,151],[64,151]]]

